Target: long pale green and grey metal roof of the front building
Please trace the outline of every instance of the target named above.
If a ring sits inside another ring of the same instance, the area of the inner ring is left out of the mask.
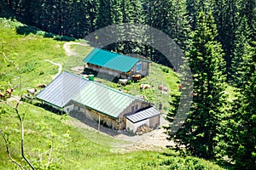
[[[44,88],[37,98],[60,108],[68,105],[70,101],[75,101],[113,118],[117,118],[127,106],[131,105],[131,102],[140,100],[66,71]]]

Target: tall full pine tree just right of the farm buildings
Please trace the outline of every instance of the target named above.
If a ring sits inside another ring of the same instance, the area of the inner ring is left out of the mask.
[[[197,22],[187,54],[194,75],[193,101],[186,122],[170,139],[177,148],[184,145],[192,155],[212,159],[224,99],[225,62],[221,44],[215,40],[218,33],[212,14],[201,12]],[[171,126],[175,126],[172,121]]]

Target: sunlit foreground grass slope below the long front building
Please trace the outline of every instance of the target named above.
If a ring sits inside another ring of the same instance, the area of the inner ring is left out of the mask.
[[[75,128],[66,116],[55,115],[26,103],[20,105],[20,111],[26,111],[26,156],[31,156],[35,165],[38,162],[38,149],[40,148],[40,153],[48,150],[49,136],[53,136],[53,145],[56,148],[53,152],[53,165],[59,169],[221,169],[210,161],[190,156],[179,157],[172,150],[115,152],[113,150],[116,149],[116,144],[124,144],[123,141],[85,128]],[[10,133],[12,154],[20,161],[19,122],[11,111],[2,114],[0,119],[3,122],[0,128]],[[102,144],[99,144],[99,140],[102,140]],[[8,161],[3,139],[0,138],[0,169],[14,167]]]

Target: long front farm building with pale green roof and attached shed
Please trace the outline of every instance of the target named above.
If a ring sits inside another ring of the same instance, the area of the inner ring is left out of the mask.
[[[143,122],[150,127],[160,124],[160,112],[143,99],[66,71],[50,82],[37,99],[61,111],[78,111],[114,129],[128,129],[128,126],[134,131]]]

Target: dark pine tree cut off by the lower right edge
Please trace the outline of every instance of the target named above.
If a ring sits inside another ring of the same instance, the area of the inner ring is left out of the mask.
[[[247,59],[250,62],[244,65],[247,82],[237,88],[236,99],[222,119],[218,152],[220,160],[228,156],[228,160],[235,162],[236,169],[249,170],[256,168],[256,48],[248,50]]]

